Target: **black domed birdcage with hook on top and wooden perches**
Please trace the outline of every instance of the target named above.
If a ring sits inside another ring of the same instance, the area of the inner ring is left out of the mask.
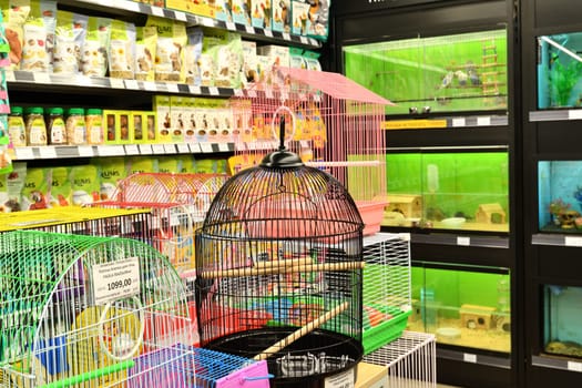
[[[283,142],[231,177],[196,231],[201,346],[266,359],[272,387],[353,378],[363,355],[363,229],[341,183]]]

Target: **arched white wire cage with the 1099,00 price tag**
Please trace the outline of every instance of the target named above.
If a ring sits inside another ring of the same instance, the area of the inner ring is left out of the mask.
[[[0,312],[1,387],[127,386],[137,357],[192,345],[184,283],[133,239],[0,234]]]

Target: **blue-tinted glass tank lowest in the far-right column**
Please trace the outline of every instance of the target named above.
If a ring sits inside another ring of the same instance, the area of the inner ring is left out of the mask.
[[[543,286],[543,347],[548,354],[582,357],[582,287]]]

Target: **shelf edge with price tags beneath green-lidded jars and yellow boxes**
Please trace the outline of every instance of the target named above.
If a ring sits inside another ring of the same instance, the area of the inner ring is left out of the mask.
[[[70,159],[93,156],[213,154],[233,152],[233,143],[47,145],[14,149],[16,160]]]

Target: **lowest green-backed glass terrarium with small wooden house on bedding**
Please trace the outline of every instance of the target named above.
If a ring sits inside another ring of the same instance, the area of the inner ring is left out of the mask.
[[[507,268],[412,266],[412,313],[407,329],[439,344],[511,351],[511,293]]]

